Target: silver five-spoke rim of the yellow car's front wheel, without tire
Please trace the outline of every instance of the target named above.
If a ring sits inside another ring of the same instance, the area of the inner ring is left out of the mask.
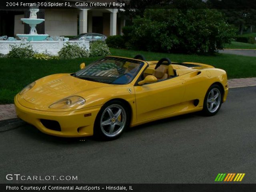
[[[108,137],[115,137],[122,132],[126,124],[126,112],[119,104],[108,106],[100,118],[102,133]]]

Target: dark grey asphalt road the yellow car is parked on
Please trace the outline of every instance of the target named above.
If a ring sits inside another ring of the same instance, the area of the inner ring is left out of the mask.
[[[188,114],[127,130],[111,142],[57,138],[33,126],[0,133],[0,183],[6,174],[78,176],[68,183],[214,183],[218,173],[256,181],[256,86],[231,89],[216,116]],[[62,181],[66,182],[67,181]]]

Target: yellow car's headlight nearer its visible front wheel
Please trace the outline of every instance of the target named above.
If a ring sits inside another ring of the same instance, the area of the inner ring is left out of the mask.
[[[49,108],[52,109],[65,109],[65,108],[71,108],[74,106],[80,106],[85,104],[85,99],[80,96],[71,96],[64,98],[62,100],[59,100],[55,102],[54,104],[51,104]]]

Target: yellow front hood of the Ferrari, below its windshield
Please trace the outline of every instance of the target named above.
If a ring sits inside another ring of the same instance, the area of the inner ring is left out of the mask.
[[[28,106],[28,103],[33,104],[33,108],[35,108],[35,105],[40,109],[44,106],[48,108],[48,106],[63,98],[106,86],[111,85],[79,79],[70,74],[54,74],[37,80],[31,90],[20,96],[22,99],[19,102],[26,106]]]

